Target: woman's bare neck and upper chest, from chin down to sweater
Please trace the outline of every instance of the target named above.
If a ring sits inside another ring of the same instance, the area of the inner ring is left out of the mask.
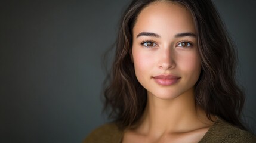
[[[182,98],[175,99],[173,104],[149,99],[141,122],[124,133],[122,142],[199,142],[213,122],[206,117],[205,111],[193,102],[188,105],[189,102]]]

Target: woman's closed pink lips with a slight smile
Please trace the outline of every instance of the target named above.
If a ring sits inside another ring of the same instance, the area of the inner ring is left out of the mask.
[[[159,75],[154,76],[153,79],[155,79],[156,83],[158,83],[159,85],[168,86],[177,83],[180,77],[172,75]]]

